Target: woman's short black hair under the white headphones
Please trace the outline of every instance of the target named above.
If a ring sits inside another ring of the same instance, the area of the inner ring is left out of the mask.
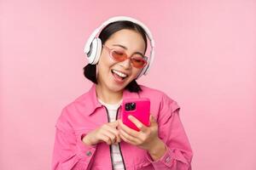
[[[123,29],[133,30],[137,31],[139,34],[142,35],[143,40],[145,42],[145,52],[147,50],[147,36],[146,32],[143,30],[142,26],[137,25],[136,23],[133,23],[131,21],[115,21],[113,23],[108,24],[108,26],[104,27],[99,35],[99,38],[102,40],[102,44],[104,44],[109,37],[113,35],[116,31],[120,31]],[[91,82],[94,82],[97,84],[96,79],[96,65],[86,65],[84,66],[84,77],[88,78]],[[130,92],[140,92],[142,91],[142,88],[137,84],[136,80],[132,80],[125,89],[128,89]]]

